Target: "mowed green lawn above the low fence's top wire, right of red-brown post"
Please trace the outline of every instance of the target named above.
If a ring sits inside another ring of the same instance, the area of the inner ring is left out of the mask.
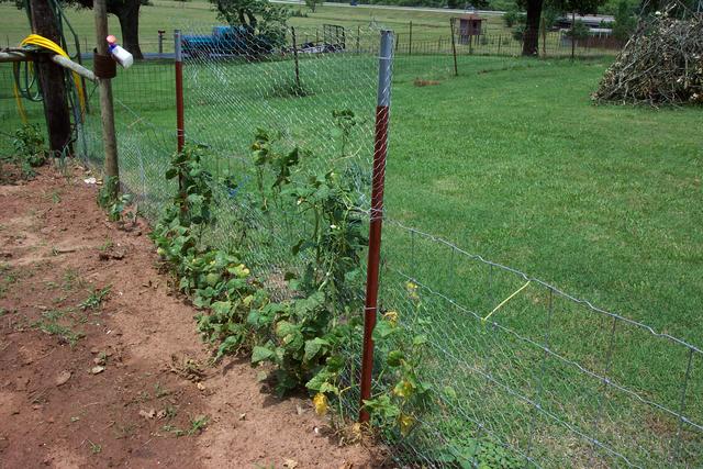
[[[701,346],[702,110],[594,105],[606,65],[399,72],[388,215]]]

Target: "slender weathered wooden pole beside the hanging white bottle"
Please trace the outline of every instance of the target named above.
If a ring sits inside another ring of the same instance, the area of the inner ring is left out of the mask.
[[[96,41],[100,56],[109,56],[108,53],[108,8],[105,0],[93,0],[96,14]],[[120,190],[120,168],[118,166],[118,141],[114,135],[114,109],[112,107],[112,83],[110,78],[99,78],[100,83],[100,116],[102,118],[102,141],[105,152],[105,182],[116,179],[118,183],[108,186],[114,189],[111,196],[116,197]],[[114,183],[114,182],[113,182]]]

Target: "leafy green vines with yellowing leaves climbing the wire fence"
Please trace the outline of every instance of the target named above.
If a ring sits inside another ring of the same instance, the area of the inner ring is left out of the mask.
[[[359,120],[348,110],[332,115],[344,156],[344,142]],[[366,237],[356,209],[357,190],[349,182],[353,178],[334,170],[306,171],[301,167],[303,152],[282,147],[269,131],[257,130],[250,148],[261,215],[274,216],[276,208],[311,222],[305,225],[308,233],[290,246],[300,268],[284,277],[289,299],[274,301],[235,247],[225,250],[203,244],[203,230],[214,223],[214,181],[202,169],[203,148],[188,146],[171,158],[167,177],[179,179],[182,189],[152,237],[180,291],[201,310],[198,328],[216,348],[215,359],[250,353],[254,366],[272,366],[270,378],[278,394],[305,387],[315,394],[315,409],[326,412],[328,399],[338,400],[349,389],[341,387],[347,362],[344,351],[362,333],[360,264]],[[391,335],[384,332],[387,325],[388,321],[379,324],[379,344]],[[429,388],[419,378],[424,338],[397,331],[394,345],[382,349],[389,353],[388,388],[368,405],[375,421],[405,435],[415,425],[413,415],[425,405]]]

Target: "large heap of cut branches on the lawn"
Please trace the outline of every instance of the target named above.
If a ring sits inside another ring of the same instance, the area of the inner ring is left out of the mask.
[[[703,15],[657,12],[605,71],[593,99],[651,105],[703,102]]]

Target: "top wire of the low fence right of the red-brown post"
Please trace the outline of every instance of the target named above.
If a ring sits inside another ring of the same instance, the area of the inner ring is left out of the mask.
[[[478,261],[480,261],[482,264],[486,264],[488,266],[492,266],[492,267],[495,267],[498,269],[514,273],[514,275],[521,277],[523,280],[525,280],[527,282],[538,283],[538,284],[543,286],[544,288],[546,288],[548,290],[551,290],[553,293],[555,293],[555,294],[557,294],[559,297],[562,297],[562,298],[565,298],[567,300],[570,300],[570,301],[572,301],[572,302],[574,302],[577,304],[582,304],[582,305],[587,306],[589,310],[591,310],[591,311],[593,311],[595,313],[603,314],[603,315],[613,317],[613,319],[615,319],[617,321],[621,321],[623,323],[629,324],[629,325],[632,325],[634,327],[641,328],[641,330],[648,332],[649,334],[651,334],[655,337],[659,337],[659,338],[663,338],[663,339],[670,340],[670,342],[672,342],[674,344],[678,344],[678,345],[681,345],[682,347],[688,348],[692,353],[696,353],[696,354],[703,355],[703,349],[696,347],[695,345],[689,344],[688,342],[682,340],[682,339],[680,339],[678,337],[674,337],[674,336],[672,336],[670,334],[667,334],[667,333],[663,333],[663,332],[657,332],[657,331],[655,331],[654,327],[651,327],[651,326],[649,326],[647,324],[640,323],[640,322],[632,320],[629,317],[625,317],[625,316],[623,316],[621,314],[613,313],[611,311],[607,311],[607,310],[604,310],[602,308],[599,308],[599,306],[594,305],[593,303],[591,303],[589,300],[584,300],[584,299],[581,299],[581,298],[577,298],[577,297],[574,297],[572,294],[569,294],[569,293],[565,292],[563,290],[560,290],[559,288],[557,288],[557,287],[555,287],[555,286],[553,286],[553,284],[550,284],[550,283],[548,283],[548,282],[546,282],[544,280],[540,280],[540,279],[538,279],[536,277],[533,277],[533,276],[529,276],[529,275],[523,272],[522,270],[517,270],[515,268],[512,268],[512,267],[509,267],[509,266],[504,266],[504,265],[499,264],[499,263],[493,263],[492,260],[486,259],[481,255],[469,253],[469,252],[462,249],[461,247],[455,245],[454,243],[450,243],[450,242],[448,242],[448,241],[446,241],[446,239],[444,239],[444,238],[442,238],[439,236],[436,236],[436,235],[433,235],[433,234],[429,234],[429,233],[425,233],[423,231],[413,228],[411,226],[406,226],[406,225],[402,224],[401,222],[399,222],[397,220],[386,217],[384,222],[388,222],[388,223],[391,223],[393,225],[397,225],[398,227],[400,227],[402,230],[405,230],[405,231],[408,231],[410,233],[414,233],[414,234],[416,234],[419,236],[425,237],[425,238],[427,238],[427,239],[429,239],[429,241],[432,241],[434,243],[445,245],[445,246],[454,249],[458,254],[461,254],[461,255],[464,255],[466,257],[469,257],[471,259],[478,260]]]

